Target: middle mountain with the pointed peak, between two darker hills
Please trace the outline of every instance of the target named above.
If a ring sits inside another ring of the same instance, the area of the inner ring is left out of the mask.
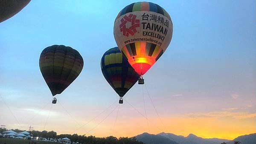
[[[227,139],[219,139],[219,138],[201,138],[194,134],[189,134],[187,137],[182,135],[175,135],[172,133],[161,132],[157,135],[161,135],[163,137],[169,138],[172,141],[176,141],[179,144],[221,144],[222,142],[230,141]]]

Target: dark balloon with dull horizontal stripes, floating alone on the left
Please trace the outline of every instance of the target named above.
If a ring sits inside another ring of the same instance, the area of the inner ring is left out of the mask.
[[[76,49],[69,46],[53,45],[45,48],[40,55],[39,66],[52,96],[61,94],[80,74],[84,61]],[[56,98],[52,103],[55,104]]]

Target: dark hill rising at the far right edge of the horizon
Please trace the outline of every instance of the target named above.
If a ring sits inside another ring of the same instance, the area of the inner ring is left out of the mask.
[[[227,144],[234,144],[234,141],[240,141],[241,144],[256,144],[256,133],[241,135],[234,140],[227,142]]]

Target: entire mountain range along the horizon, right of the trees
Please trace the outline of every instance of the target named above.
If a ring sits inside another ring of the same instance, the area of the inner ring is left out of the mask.
[[[175,135],[172,133],[161,132],[157,135],[144,132],[143,134],[135,136],[138,141],[145,144],[233,144],[234,141],[240,141],[241,144],[256,144],[256,133],[250,135],[241,135],[233,140],[220,138],[201,138],[194,134],[189,134],[187,137],[182,135]]]

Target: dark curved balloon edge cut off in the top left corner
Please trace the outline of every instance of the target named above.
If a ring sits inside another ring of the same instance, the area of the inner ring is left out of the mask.
[[[30,0],[0,0],[0,23],[20,12]]]

